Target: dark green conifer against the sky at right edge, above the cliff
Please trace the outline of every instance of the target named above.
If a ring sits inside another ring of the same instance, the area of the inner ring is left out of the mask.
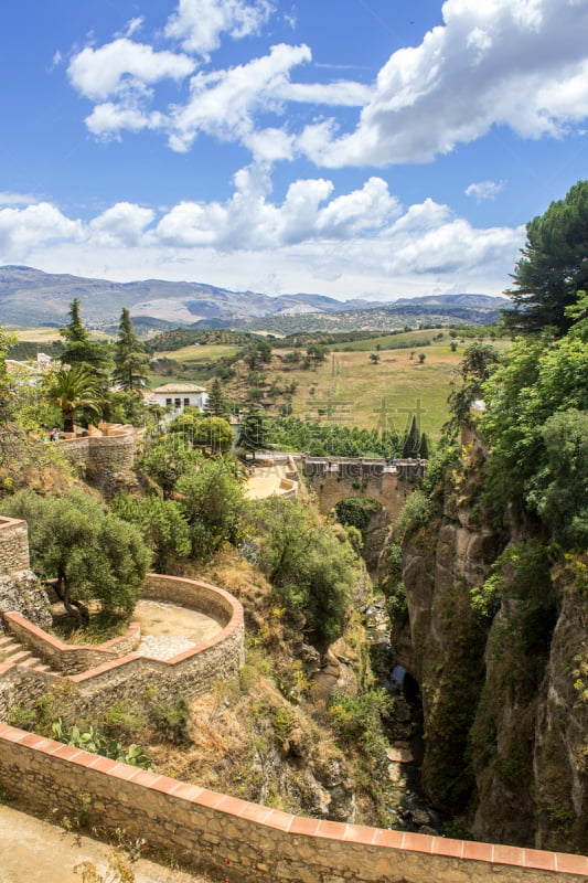
[[[565,334],[571,326],[566,307],[588,287],[588,181],[526,225],[521,254],[512,274],[515,288],[505,292],[514,307],[503,310],[504,323],[513,332],[550,328]]]

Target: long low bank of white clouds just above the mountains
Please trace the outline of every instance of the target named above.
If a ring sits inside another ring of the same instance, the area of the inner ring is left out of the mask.
[[[128,202],[86,223],[54,205],[0,210],[0,263],[128,279],[199,279],[238,290],[276,278],[281,290],[342,299],[430,290],[504,289],[524,228],[477,230],[432,200],[403,208],[381,178],[338,193],[325,178],[271,198],[269,167],[235,175],[224,202],[161,211]]]

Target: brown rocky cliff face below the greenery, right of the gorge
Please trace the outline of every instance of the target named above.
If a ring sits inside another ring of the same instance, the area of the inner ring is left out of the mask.
[[[514,517],[495,534],[469,499],[463,485],[447,494],[403,544],[409,637],[393,641],[421,688],[423,785],[477,839],[584,852],[586,562],[554,564]],[[481,611],[472,589],[492,573],[501,592]]]

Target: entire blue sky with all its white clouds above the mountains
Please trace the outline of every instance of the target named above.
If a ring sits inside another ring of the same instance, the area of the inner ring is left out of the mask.
[[[587,177],[588,0],[9,0],[0,265],[501,294]]]

